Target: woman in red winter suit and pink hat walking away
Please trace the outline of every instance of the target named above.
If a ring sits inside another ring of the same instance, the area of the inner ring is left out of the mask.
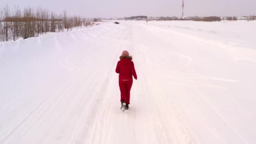
[[[137,80],[134,63],[131,61],[132,56],[129,52],[124,50],[119,57],[120,61],[116,65],[116,73],[119,73],[119,88],[121,92],[121,109],[125,107],[126,110],[130,104],[130,91],[132,86],[132,76]]]

